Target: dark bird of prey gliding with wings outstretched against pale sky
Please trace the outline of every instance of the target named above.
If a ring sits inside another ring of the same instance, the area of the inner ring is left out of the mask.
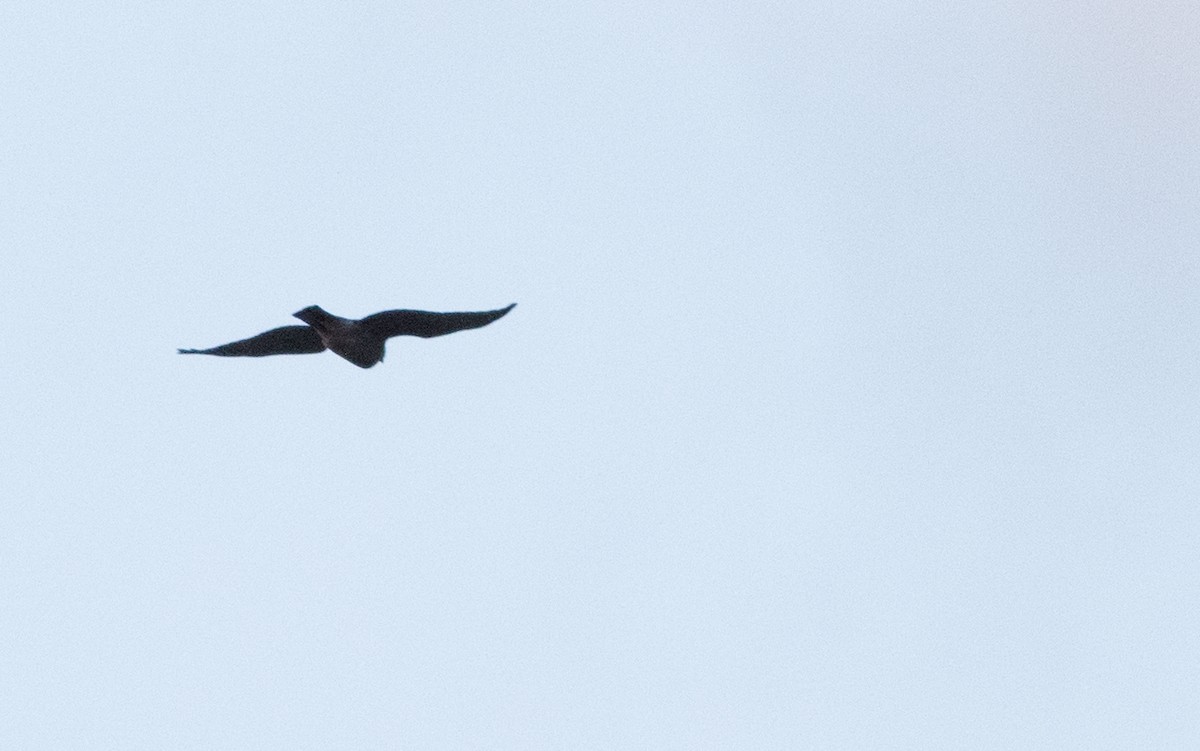
[[[248,340],[239,340],[209,349],[180,349],[181,355],[220,355],[222,358],[265,358],[266,355],[306,355],[325,349],[361,368],[383,362],[383,346],[394,336],[430,338],[455,331],[486,326],[516,307],[516,302],[498,311],[478,313],[431,313],[428,311],[384,311],[358,320],[326,313],[316,305],[293,313],[304,326],[280,326]]]

